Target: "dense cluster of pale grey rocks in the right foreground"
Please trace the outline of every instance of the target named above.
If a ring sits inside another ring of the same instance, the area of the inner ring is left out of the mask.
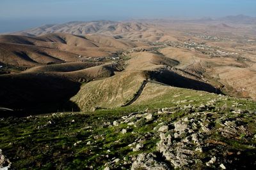
[[[255,140],[245,121],[246,117],[252,117],[253,112],[247,111],[247,115],[241,115],[241,111],[232,111],[232,115],[227,115],[209,111],[209,108],[220,110],[214,106],[215,102],[216,100],[212,100],[199,107],[184,106],[184,111],[192,113],[186,114],[186,117],[179,120],[170,122],[160,120],[154,128],[160,139],[156,144],[155,152],[160,154],[160,159],[157,160],[154,153],[141,153],[132,164],[132,169],[236,167],[237,165],[232,162],[241,159],[240,152],[239,148],[230,146],[232,145],[230,142],[235,140],[234,143],[239,143],[242,142],[242,138],[246,138],[246,141]],[[163,109],[154,113],[155,117],[161,117],[163,114]],[[252,145],[246,147],[256,149]],[[233,154],[234,150],[239,154]]]

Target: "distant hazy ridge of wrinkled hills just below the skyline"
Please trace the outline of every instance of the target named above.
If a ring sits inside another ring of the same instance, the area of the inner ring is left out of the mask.
[[[75,35],[100,34],[113,36],[116,39],[148,40],[159,41],[161,39],[175,39],[172,36],[165,36],[164,31],[157,24],[146,22],[112,22],[112,21],[93,21],[93,22],[68,22],[66,24],[52,24],[29,29],[26,31],[15,32],[18,35],[40,36],[51,33],[67,33]]]

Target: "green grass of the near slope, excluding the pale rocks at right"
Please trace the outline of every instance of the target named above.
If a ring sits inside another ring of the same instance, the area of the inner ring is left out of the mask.
[[[100,82],[98,83],[100,84]],[[127,145],[133,143],[137,138],[145,136],[148,132],[155,134],[153,128],[158,123],[139,120],[136,127],[127,124],[113,127],[109,126],[108,122],[112,124],[114,120],[120,121],[122,116],[129,115],[134,111],[143,111],[149,108],[148,112],[154,113],[157,108],[164,107],[172,108],[175,113],[168,116],[158,116],[157,122],[172,122],[181,117],[191,116],[189,112],[181,109],[184,106],[188,104],[198,106],[212,99],[216,99],[216,106],[227,104],[228,108],[222,113],[218,113],[217,110],[208,110],[216,113],[216,117],[225,114],[232,117],[232,113],[230,113],[232,109],[247,108],[247,110],[254,111],[256,109],[256,104],[252,101],[195,90],[166,88],[154,83],[149,83],[145,92],[152,90],[152,88],[156,89],[152,92],[153,96],[159,92],[161,92],[161,96],[149,99],[143,97],[145,94],[142,94],[141,98],[138,99],[141,104],[134,103],[132,106],[113,110],[1,119],[0,148],[13,163],[12,167],[16,169],[24,167],[33,169],[86,169],[91,167],[92,169],[100,169],[104,167],[106,162],[111,162],[116,158],[119,158],[120,162],[113,163],[111,166],[123,166],[125,169],[129,169],[133,156],[141,152],[154,152],[156,150],[155,146],[159,136],[153,135],[152,138],[144,141],[144,147],[139,152],[133,152],[131,147]],[[244,122],[255,124],[255,116],[241,115],[240,117]],[[251,131],[255,134],[256,129],[252,125]],[[122,129],[128,129],[128,132],[122,134]],[[221,141],[217,137],[216,140]],[[75,146],[77,141],[81,141],[81,143]],[[90,141],[90,145],[87,144],[88,141]],[[230,140],[227,143],[227,147],[240,150],[243,150],[242,146],[248,149],[250,148],[249,145],[252,144],[246,144],[248,141],[245,139]],[[124,161],[127,162],[127,165],[124,165]]]

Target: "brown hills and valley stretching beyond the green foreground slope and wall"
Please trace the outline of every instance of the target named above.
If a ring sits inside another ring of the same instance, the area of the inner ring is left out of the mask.
[[[146,83],[255,100],[255,28],[227,17],[68,22],[2,34],[0,107],[113,108]]]

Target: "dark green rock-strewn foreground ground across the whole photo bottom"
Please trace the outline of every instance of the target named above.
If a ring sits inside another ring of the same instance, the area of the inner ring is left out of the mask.
[[[256,166],[256,113],[239,109],[243,104],[236,102],[233,107],[216,106],[225,99],[220,96],[198,106],[179,101],[175,107],[115,117],[54,113],[2,118],[1,129],[8,127],[6,122],[23,129],[12,138],[1,134],[0,166],[252,169]]]

